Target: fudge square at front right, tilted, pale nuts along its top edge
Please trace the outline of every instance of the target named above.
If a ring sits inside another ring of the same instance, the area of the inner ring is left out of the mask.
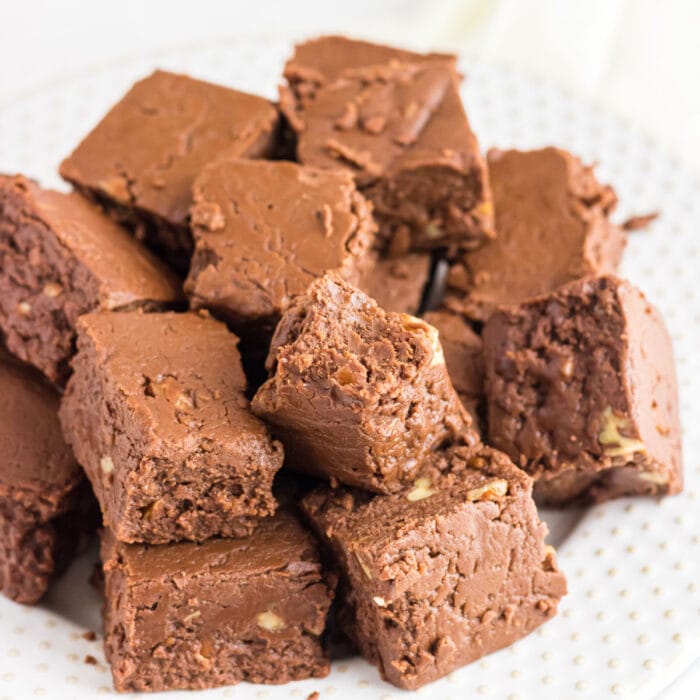
[[[402,493],[321,487],[302,501],[339,573],[346,630],[407,689],[529,634],[566,593],[526,474],[484,447],[430,467]]]

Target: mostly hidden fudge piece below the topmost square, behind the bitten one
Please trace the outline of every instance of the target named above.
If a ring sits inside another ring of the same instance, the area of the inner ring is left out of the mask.
[[[416,315],[430,281],[431,256],[409,253],[401,258],[378,258],[358,282],[384,311]]]

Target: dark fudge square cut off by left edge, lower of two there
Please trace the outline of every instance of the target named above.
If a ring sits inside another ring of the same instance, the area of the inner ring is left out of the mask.
[[[42,598],[81,527],[84,477],[58,405],[38,372],[0,349],[0,592],[19,603]]]

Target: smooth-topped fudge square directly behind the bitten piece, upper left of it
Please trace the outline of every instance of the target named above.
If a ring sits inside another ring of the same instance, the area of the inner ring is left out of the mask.
[[[194,184],[191,305],[242,336],[262,336],[267,349],[311,282],[328,271],[357,282],[371,265],[370,210],[346,172],[282,161],[209,165]]]

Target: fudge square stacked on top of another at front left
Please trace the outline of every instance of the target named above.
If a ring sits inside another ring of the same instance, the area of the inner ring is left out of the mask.
[[[250,412],[237,343],[195,313],[80,318],[61,424],[119,540],[243,537],[274,512],[282,447]]]

